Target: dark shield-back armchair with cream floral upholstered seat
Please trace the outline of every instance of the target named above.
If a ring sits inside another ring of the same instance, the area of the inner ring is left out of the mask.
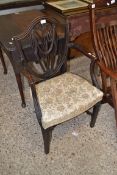
[[[32,90],[46,154],[56,125],[94,107],[90,124],[94,126],[103,96],[84,78],[66,72],[68,34],[67,24],[43,17],[34,19],[24,33],[14,37],[21,73]],[[29,52],[25,52],[24,43]]]

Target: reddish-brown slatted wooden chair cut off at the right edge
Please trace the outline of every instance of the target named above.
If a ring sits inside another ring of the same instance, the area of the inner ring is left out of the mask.
[[[109,9],[117,3],[111,0],[102,3],[105,13],[97,8],[100,3],[89,5],[92,42],[96,59],[93,68],[98,65],[101,77],[100,87],[104,93],[103,103],[108,102],[115,110],[117,124],[117,8]],[[96,75],[93,79],[97,78]]]

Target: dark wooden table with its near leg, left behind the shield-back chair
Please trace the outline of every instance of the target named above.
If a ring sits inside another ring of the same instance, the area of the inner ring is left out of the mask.
[[[22,107],[25,107],[26,103],[20,75],[19,57],[15,55],[16,49],[12,38],[13,36],[22,33],[34,18],[41,15],[43,15],[43,13],[40,12],[40,10],[32,10],[18,14],[0,16],[0,47],[7,54],[12,64],[21,96]]]

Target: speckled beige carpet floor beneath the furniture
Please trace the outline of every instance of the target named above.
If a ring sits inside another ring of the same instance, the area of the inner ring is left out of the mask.
[[[30,91],[24,80],[27,107],[22,109],[17,84],[6,58],[0,65],[0,175],[117,175],[117,129],[114,111],[101,107],[96,126],[83,115],[57,126],[45,155]],[[89,78],[88,58],[74,59],[70,70]]]

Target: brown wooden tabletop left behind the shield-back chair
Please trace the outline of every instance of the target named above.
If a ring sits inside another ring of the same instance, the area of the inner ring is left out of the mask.
[[[7,50],[13,50],[12,38],[23,32],[31,21],[38,17],[44,16],[43,12],[31,10],[18,14],[0,16],[0,43]],[[8,26],[8,27],[6,27]]]

